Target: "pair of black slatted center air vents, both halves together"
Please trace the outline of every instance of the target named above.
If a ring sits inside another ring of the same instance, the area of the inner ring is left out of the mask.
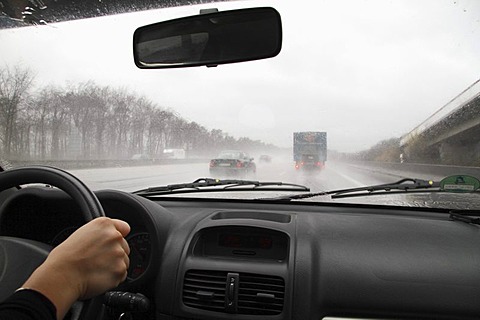
[[[232,277],[238,277],[238,287]],[[285,282],[280,277],[205,270],[190,270],[185,274],[183,303],[192,308],[276,315],[282,313],[284,298]]]

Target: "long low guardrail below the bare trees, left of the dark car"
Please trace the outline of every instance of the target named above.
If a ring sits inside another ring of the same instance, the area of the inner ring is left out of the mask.
[[[8,161],[13,166],[44,165],[62,169],[90,169],[90,168],[115,168],[156,166],[168,164],[208,163],[210,159],[150,159],[150,160],[29,160]]]

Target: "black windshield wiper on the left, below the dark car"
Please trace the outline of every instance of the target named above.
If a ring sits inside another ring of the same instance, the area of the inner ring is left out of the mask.
[[[285,182],[261,182],[254,180],[220,180],[200,178],[190,183],[170,184],[151,187],[133,192],[140,196],[155,196],[174,193],[218,192],[218,191],[310,191],[310,188],[299,184]]]

